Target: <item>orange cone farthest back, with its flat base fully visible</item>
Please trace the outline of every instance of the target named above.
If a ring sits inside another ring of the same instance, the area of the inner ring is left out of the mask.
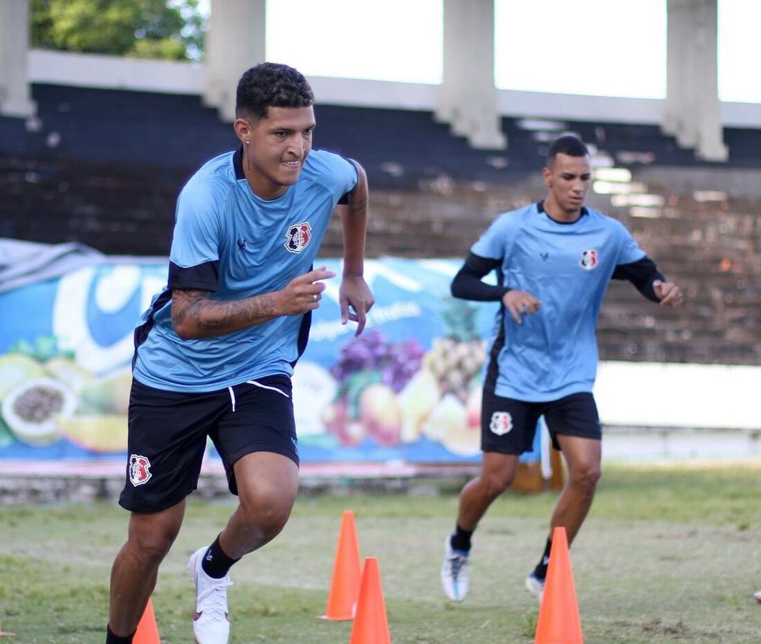
[[[338,534],[336,561],[333,563],[333,579],[330,582],[328,605],[323,620],[353,620],[357,610],[361,568],[354,512],[346,510],[341,519]]]

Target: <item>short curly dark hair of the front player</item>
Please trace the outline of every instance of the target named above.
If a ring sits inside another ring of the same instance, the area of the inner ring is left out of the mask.
[[[235,116],[259,120],[267,116],[270,107],[313,104],[312,88],[301,72],[277,62],[263,62],[240,77],[235,94]]]

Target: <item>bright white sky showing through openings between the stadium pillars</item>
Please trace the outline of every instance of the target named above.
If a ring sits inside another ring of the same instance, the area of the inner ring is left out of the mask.
[[[209,0],[201,8],[209,15]],[[269,0],[266,56],[313,76],[438,84],[442,15],[441,0]],[[761,103],[747,81],[759,24],[761,2],[718,0],[721,100]],[[495,0],[495,84],[664,98],[666,0]]]

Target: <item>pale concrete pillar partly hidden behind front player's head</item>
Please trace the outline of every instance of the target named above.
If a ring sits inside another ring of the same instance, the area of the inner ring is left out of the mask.
[[[212,0],[211,6],[203,101],[232,122],[240,76],[264,62],[266,0]]]

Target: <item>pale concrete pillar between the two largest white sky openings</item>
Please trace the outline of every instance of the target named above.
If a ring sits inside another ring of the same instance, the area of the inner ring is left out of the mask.
[[[444,0],[444,81],[436,118],[474,148],[505,148],[494,86],[494,0]]]

